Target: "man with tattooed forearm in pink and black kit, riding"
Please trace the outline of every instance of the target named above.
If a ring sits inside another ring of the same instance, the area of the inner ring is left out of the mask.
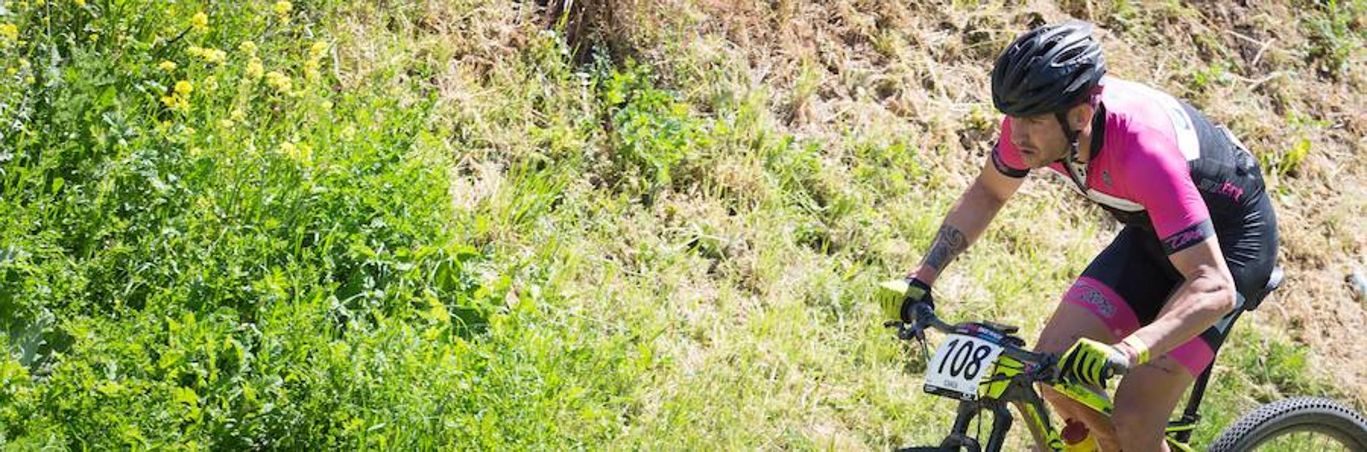
[[[899,309],[909,321],[913,305],[932,303],[935,279],[1031,169],[1064,175],[1124,227],[1064,294],[1038,351],[1061,352],[1064,374],[1091,385],[1106,385],[1102,363],[1129,371],[1111,418],[1042,392],[1103,449],[1166,451],[1167,416],[1223,341],[1213,325],[1269,280],[1277,220],[1249,152],[1191,105],[1107,76],[1091,31],[1040,26],[997,59],[1001,138],[908,273]]]

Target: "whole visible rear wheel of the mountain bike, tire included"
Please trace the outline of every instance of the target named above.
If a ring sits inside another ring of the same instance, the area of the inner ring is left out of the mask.
[[[1225,429],[1211,452],[1367,452],[1367,421],[1342,404],[1295,397],[1258,407]]]

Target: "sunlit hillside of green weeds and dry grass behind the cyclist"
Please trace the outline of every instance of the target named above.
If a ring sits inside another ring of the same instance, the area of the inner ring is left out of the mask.
[[[932,441],[871,285],[984,163],[991,59],[1069,15],[1275,193],[1289,280],[1197,447],[1363,407],[1363,1],[558,4],[0,3],[0,445]],[[1035,176],[940,313],[1033,337],[1114,231]]]

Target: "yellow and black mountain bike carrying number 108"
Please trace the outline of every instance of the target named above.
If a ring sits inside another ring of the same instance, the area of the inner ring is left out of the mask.
[[[1280,283],[1281,269],[1277,269],[1258,299],[1247,302],[1240,296],[1236,309],[1215,326],[1228,333],[1241,313],[1256,309],[1262,298]],[[906,284],[883,283],[879,291],[880,296],[897,296],[905,294]],[[1081,436],[1085,436],[1085,427],[1077,423],[1057,429],[1050,421],[1048,407],[1035,389],[1036,384],[1048,385],[1102,414],[1110,415],[1114,410],[1105,392],[1064,377],[1058,366],[1061,358],[1058,354],[1025,350],[1025,340],[1016,336],[1018,332],[1016,326],[992,321],[950,325],[925,305],[916,306],[913,311],[912,322],[891,321],[884,326],[895,328],[901,340],[920,343],[921,352],[927,356],[923,389],[927,393],[958,400],[958,408],[950,433],[939,445],[902,451],[984,451],[980,441],[983,421],[979,419],[976,436],[968,432],[969,425],[983,412],[992,415],[986,451],[1001,451],[1014,419],[1007,410],[1009,404],[1016,406],[1035,441],[1047,451],[1085,451],[1084,447],[1064,441],[1066,436],[1077,434],[1074,429],[1083,429]],[[934,356],[927,350],[924,335],[927,329],[947,335]],[[1208,366],[1197,377],[1181,418],[1167,423],[1165,438],[1173,451],[1192,451],[1191,434],[1200,421],[1197,412],[1213,367]],[[1124,369],[1107,369],[1107,371],[1117,374]],[[1367,452],[1367,421],[1353,410],[1329,399],[1278,400],[1236,421],[1215,440],[1211,451]]]

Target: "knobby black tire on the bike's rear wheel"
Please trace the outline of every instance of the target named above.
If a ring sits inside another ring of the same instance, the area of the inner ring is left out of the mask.
[[[1244,452],[1297,432],[1327,434],[1353,452],[1367,452],[1367,421],[1352,408],[1321,397],[1277,400],[1239,418],[1215,440],[1211,452]]]

